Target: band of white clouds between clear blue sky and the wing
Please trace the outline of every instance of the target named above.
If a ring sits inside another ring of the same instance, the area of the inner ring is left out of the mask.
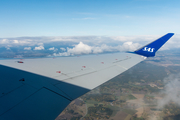
[[[62,37],[18,37],[0,38],[0,48],[40,52],[49,55],[69,56],[97,54],[103,52],[134,51],[161,36],[62,36]],[[180,48],[180,35],[175,35],[160,50]],[[59,49],[58,49],[59,48]],[[51,51],[51,52],[50,52]]]

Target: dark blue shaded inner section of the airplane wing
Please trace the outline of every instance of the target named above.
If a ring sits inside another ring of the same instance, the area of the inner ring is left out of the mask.
[[[1,120],[55,119],[73,99],[70,97],[71,94],[68,95],[68,92],[62,91],[61,87],[58,88],[53,84],[62,84],[68,90],[77,92],[76,96],[89,91],[82,87],[7,66],[0,65],[0,71]],[[5,85],[3,82],[7,82],[7,84]],[[10,88],[8,83],[11,84],[9,85],[11,89],[8,89]]]

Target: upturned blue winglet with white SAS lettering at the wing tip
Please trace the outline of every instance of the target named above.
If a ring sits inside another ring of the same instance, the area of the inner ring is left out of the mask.
[[[144,47],[134,51],[136,54],[143,55],[146,57],[154,57],[156,51],[164,45],[172,36],[174,33],[168,33],[161,38],[153,41],[152,43],[149,43],[148,45],[145,45]]]

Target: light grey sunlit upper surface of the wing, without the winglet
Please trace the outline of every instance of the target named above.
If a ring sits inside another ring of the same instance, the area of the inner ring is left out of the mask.
[[[108,55],[87,55],[80,57],[57,57],[55,59],[24,59],[21,60],[23,61],[23,63],[18,63],[18,60],[11,59],[1,60],[0,64],[15,69],[20,69],[26,72],[49,77],[52,79],[56,79],[58,81],[73,83],[75,85],[87,89],[93,89],[99,84],[96,83],[91,85],[88,83],[87,80],[86,82],[88,85],[84,85],[81,83],[76,84],[76,81],[71,81],[83,76],[91,76],[91,81],[93,81],[93,79],[96,79],[96,76],[104,76],[103,78],[99,78],[104,81],[106,79],[106,76],[114,77],[115,71],[117,71],[116,75],[118,75],[142,60],[144,60],[144,57],[141,57],[136,54],[114,53]],[[103,72],[105,72],[103,76],[98,75],[101,74],[101,72],[102,74]],[[9,72],[9,74],[11,73]],[[109,77],[107,78],[108,80]],[[100,81],[99,79],[98,81]]]

